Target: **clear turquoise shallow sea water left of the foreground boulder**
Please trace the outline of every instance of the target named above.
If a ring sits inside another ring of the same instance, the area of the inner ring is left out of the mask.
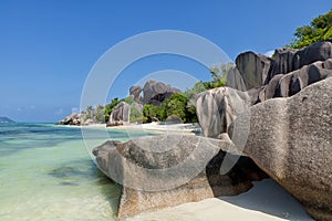
[[[107,131],[112,139],[129,139],[125,131]],[[89,151],[79,127],[0,124],[0,220],[115,220],[120,188]]]

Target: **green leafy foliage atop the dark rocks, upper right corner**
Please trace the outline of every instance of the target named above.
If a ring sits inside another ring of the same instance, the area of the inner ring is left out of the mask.
[[[314,42],[332,40],[332,10],[313,19],[310,25],[300,27],[288,46],[301,49]]]

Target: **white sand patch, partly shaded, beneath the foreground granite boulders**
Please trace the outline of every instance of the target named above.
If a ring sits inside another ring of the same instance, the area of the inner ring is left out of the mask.
[[[206,199],[156,212],[142,213],[129,221],[219,221],[219,220],[313,220],[302,206],[271,179],[255,182],[236,197]]]

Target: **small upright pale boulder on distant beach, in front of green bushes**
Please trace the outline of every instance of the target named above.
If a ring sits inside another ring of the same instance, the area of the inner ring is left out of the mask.
[[[107,126],[118,126],[129,124],[131,105],[125,102],[118,103],[110,115]]]

